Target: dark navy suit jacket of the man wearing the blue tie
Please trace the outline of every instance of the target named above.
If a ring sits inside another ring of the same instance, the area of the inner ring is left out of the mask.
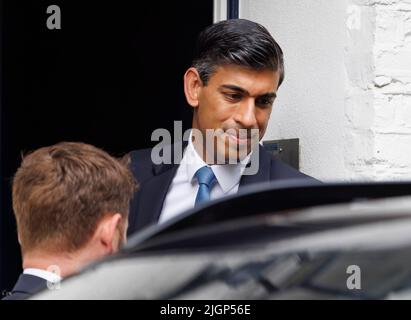
[[[169,146],[172,155],[173,146]],[[184,148],[185,145],[182,147]],[[255,175],[243,175],[239,188],[252,183],[282,179],[316,181],[276,159],[261,145],[259,148],[259,170]],[[142,149],[130,153],[130,169],[139,183],[139,189],[130,205],[129,235],[158,222],[165,197],[179,166],[178,164],[154,164],[151,161],[151,150]]]

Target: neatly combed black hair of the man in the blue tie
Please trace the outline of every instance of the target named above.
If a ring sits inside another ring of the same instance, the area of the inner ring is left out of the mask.
[[[220,21],[204,29],[198,37],[192,66],[204,85],[216,67],[229,64],[279,71],[279,86],[284,79],[280,46],[266,28],[249,20]]]

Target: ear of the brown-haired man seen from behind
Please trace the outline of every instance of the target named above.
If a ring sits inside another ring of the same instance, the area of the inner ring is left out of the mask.
[[[118,250],[121,241],[118,230],[121,230],[120,223],[122,219],[120,213],[108,214],[99,223],[100,243],[107,254],[115,253]]]

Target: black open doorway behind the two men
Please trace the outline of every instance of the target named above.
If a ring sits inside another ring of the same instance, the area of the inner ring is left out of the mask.
[[[10,182],[21,153],[84,141],[121,156],[191,126],[183,93],[212,0],[1,2],[0,289],[21,272]],[[61,30],[49,30],[49,5]]]

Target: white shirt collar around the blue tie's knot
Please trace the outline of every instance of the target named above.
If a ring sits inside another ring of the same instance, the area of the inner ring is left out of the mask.
[[[229,192],[234,186],[236,186],[241,179],[241,176],[250,161],[251,153],[247,155],[240,163],[236,164],[223,164],[212,165],[210,168],[213,170],[216,176],[217,182],[220,185],[224,193]],[[200,158],[199,154],[194,148],[191,140],[191,133],[188,139],[187,148],[184,154],[184,162],[187,168],[187,179],[189,182],[193,182],[193,178],[198,169],[207,166],[207,163]]]

